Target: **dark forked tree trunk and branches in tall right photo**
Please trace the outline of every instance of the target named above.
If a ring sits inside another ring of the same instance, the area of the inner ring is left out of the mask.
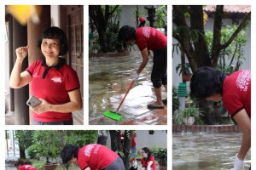
[[[224,6],[217,5],[212,29],[212,48],[209,51],[209,44],[205,40],[204,24],[206,18],[204,17],[203,6],[174,5],[172,9],[173,23],[175,24],[172,28],[172,37],[180,43],[193,72],[204,65],[217,67],[221,51],[230,46],[239,32],[247,26],[247,21],[251,17],[251,13],[245,14],[232,35],[225,42],[222,42]],[[186,17],[189,17],[190,25],[187,23]]]

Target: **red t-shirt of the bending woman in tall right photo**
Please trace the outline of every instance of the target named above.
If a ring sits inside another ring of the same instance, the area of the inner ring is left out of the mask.
[[[251,117],[251,71],[236,71],[224,79],[222,100],[230,116],[245,109]]]

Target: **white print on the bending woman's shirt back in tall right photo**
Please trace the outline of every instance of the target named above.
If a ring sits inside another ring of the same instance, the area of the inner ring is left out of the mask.
[[[246,92],[249,82],[251,81],[251,71],[241,71],[236,79],[236,87]]]

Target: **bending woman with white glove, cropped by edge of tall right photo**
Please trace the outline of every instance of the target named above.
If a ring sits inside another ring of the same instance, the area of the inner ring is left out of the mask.
[[[225,109],[241,127],[243,135],[234,169],[242,170],[251,148],[251,71],[236,71],[227,76],[224,71],[203,66],[193,73],[190,89],[190,95],[195,99],[222,100]]]

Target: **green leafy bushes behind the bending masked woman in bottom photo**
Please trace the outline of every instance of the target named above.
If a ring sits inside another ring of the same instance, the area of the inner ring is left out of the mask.
[[[80,130],[36,130],[32,132],[32,145],[29,147],[31,156],[57,158],[65,144],[82,147],[84,144],[95,143],[97,131]]]

